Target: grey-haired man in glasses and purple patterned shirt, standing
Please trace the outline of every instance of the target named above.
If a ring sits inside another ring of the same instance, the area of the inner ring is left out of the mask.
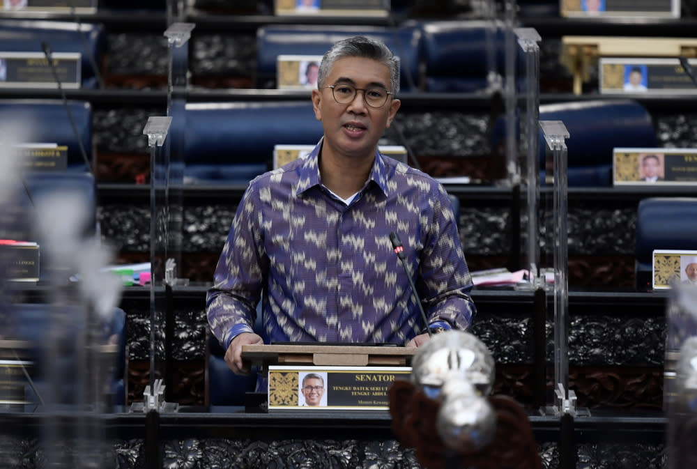
[[[234,372],[247,371],[247,344],[423,344],[428,331],[392,231],[429,327],[470,325],[473,284],[447,193],[377,151],[398,92],[399,62],[383,43],[357,36],[323,57],[312,104],[324,136],[307,158],[252,180],[206,299]],[[260,295],[263,339],[252,330]]]

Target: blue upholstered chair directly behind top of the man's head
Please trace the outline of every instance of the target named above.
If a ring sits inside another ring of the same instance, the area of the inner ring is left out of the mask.
[[[362,35],[382,40],[399,56],[400,87],[408,91],[419,85],[420,30],[415,24],[398,28],[382,26],[309,26],[271,25],[256,31],[256,83],[260,87],[275,84],[277,56],[322,56],[337,42],[351,36]],[[272,85],[273,86],[273,85]]]

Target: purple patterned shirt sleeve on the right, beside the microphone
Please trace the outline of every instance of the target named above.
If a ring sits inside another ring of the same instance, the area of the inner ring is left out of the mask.
[[[461,247],[450,199],[438,184],[434,191],[433,215],[427,228],[421,254],[419,286],[429,325],[446,323],[466,330],[472,324],[476,307],[469,295],[472,277]]]

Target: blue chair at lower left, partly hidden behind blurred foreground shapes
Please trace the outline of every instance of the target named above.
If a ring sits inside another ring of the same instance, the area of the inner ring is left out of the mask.
[[[26,380],[25,399],[38,404],[49,396],[60,404],[75,404],[79,399],[76,338],[84,333],[84,316],[77,306],[56,306],[42,303],[6,305],[2,308],[3,336],[31,344],[20,356],[33,362],[30,367],[33,386]],[[125,312],[114,308],[111,318],[98,321],[95,341],[98,344],[111,342],[116,345],[116,357],[111,370],[105,370],[107,382],[102,390],[111,397],[114,405],[125,403]],[[47,350],[54,347],[56,353],[49,361]],[[103,371],[103,370],[102,370]],[[51,376],[59,379],[52,383]],[[58,385],[59,384],[59,385]],[[38,396],[37,396],[38,394]]]

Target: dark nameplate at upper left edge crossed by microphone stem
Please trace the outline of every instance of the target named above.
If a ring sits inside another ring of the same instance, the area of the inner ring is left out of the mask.
[[[65,89],[79,89],[81,59],[77,52],[51,54],[56,74]],[[58,88],[54,71],[41,52],[0,52],[1,88]]]

